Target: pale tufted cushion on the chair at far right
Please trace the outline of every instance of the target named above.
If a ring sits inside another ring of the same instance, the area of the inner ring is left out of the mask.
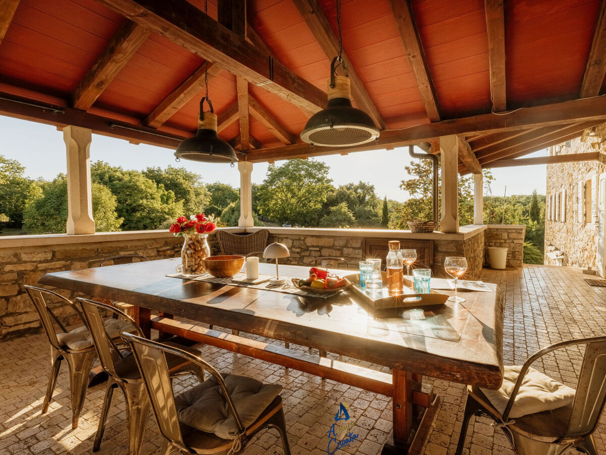
[[[503,384],[500,389],[481,389],[482,393],[501,414],[505,411],[505,406],[507,406],[521,369],[522,366],[520,365],[505,366]],[[509,417],[516,419],[528,414],[561,408],[572,402],[574,393],[574,389],[551,379],[534,368],[528,368],[513,406],[511,406]]]

